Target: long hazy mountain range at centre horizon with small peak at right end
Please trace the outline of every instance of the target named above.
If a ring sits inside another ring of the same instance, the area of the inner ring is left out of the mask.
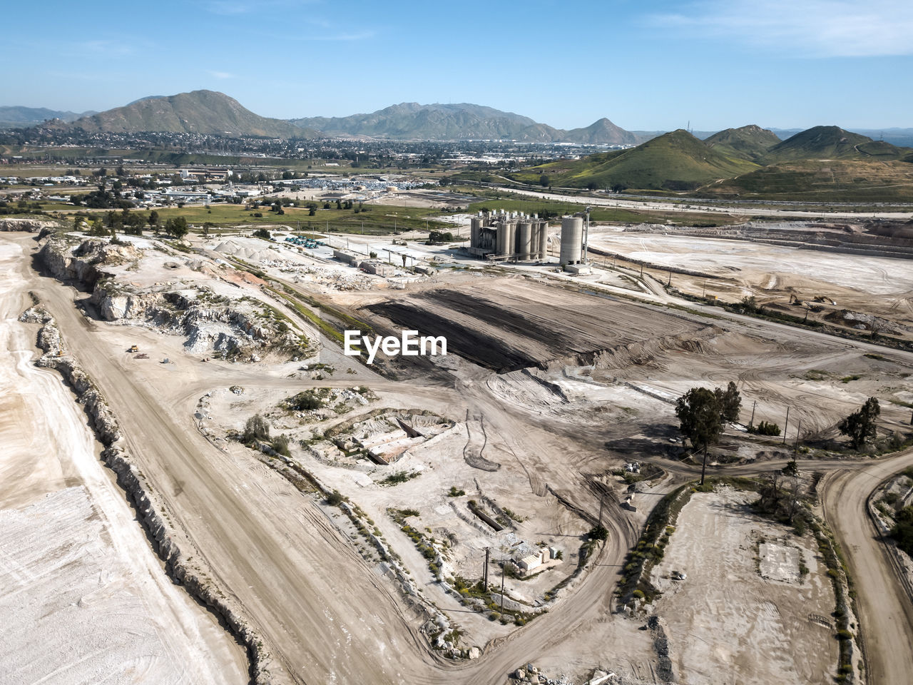
[[[409,141],[513,140],[631,144],[634,135],[607,119],[585,129],[562,131],[529,117],[467,102],[421,105],[402,102],[370,114],[290,120],[327,136],[357,136]]]

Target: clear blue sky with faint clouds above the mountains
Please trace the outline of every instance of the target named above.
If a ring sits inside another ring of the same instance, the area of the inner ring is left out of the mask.
[[[52,0],[4,24],[0,105],[208,89],[282,119],[416,101],[558,128],[913,127],[910,0]]]

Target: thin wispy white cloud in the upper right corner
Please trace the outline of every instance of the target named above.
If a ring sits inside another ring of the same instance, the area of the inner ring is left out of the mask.
[[[653,26],[789,57],[913,55],[909,0],[702,0],[653,15]]]

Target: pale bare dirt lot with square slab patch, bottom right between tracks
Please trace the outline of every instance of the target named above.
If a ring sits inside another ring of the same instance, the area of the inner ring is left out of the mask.
[[[833,682],[834,589],[818,545],[752,514],[756,497],[729,488],[692,495],[653,570],[663,593],[653,609],[666,619],[682,685]],[[789,563],[768,568],[761,545]],[[672,579],[677,572],[686,580]]]

